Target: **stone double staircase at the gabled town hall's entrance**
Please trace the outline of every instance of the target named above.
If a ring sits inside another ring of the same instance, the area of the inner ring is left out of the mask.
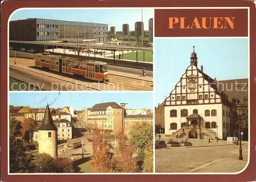
[[[197,139],[209,139],[210,136],[212,140],[217,140],[217,134],[213,129],[206,128],[198,124],[183,126],[176,132],[172,133],[173,138],[177,138],[177,136],[178,138],[191,138],[191,135],[194,135],[194,138]],[[218,136],[218,140],[222,140],[222,137]]]

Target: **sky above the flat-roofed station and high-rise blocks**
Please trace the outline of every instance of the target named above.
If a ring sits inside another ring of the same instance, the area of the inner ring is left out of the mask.
[[[142,18],[144,30],[148,30],[148,20],[153,18],[154,9],[143,9]],[[19,10],[15,12],[10,21],[27,18],[46,18],[93,23],[106,23],[122,31],[122,24],[128,23],[129,30],[134,31],[136,21],[141,21],[141,9],[71,9],[71,10]]]

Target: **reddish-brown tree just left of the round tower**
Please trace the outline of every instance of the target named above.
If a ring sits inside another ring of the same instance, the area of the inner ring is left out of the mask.
[[[26,118],[22,123],[22,136],[25,141],[32,142],[32,132],[34,128],[37,127],[37,122],[32,118]]]

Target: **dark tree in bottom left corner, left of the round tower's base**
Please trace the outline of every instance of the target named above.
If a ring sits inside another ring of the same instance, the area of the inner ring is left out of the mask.
[[[32,155],[25,153],[22,146],[15,146],[14,142],[10,141],[9,159],[10,159],[10,173],[29,173],[33,172],[31,164]]]

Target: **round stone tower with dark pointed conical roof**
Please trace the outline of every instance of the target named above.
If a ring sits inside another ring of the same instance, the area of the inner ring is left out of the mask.
[[[54,125],[52,115],[47,104],[42,124],[38,128],[38,153],[48,153],[57,158],[57,127]]]

